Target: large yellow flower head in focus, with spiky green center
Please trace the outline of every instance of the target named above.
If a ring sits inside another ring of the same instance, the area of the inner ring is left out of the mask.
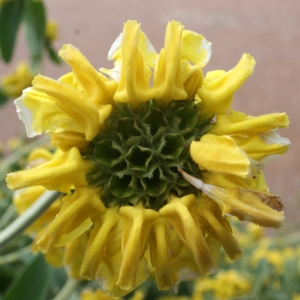
[[[241,256],[228,215],[281,225],[281,201],[261,169],[287,150],[274,130],[288,118],[231,110],[253,72],[250,55],[204,78],[210,43],[175,21],[159,54],[140,24],[127,21],[109,51],[110,70],[96,71],[71,45],[59,55],[72,71],[36,76],[15,103],[28,136],[49,133],[61,152],[8,174],[7,183],[66,193],[35,247],[52,257],[62,248],[70,276],[97,278],[123,296],[147,279],[150,264],[158,289],[176,292],[215,272],[221,247],[232,260]]]

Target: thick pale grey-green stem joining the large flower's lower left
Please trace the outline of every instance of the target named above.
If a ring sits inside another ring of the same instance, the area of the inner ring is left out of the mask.
[[[60,195],[59,192],[46,191],[22,215],[0,232],[0,248],[22,233],[33,223]]]

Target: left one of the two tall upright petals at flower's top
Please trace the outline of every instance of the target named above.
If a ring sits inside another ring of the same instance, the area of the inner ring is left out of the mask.
[[[120,82],[114,95],[116,102],[138,104],[153,98],[150,89],[151,69],[144,60],[144,34],[141,34],[140,24],[127,21],[122,36],[122,60]],[[140,47],[141,46],[141,47]]]

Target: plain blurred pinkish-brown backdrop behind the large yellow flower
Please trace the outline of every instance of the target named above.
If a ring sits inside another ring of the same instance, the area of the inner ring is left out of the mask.
[[[204,72],[233,68],[244,52],[257,61],[255,73],[236,93],[234,109],[250,115],[287,112],[290,127],[280,134],[288,137],[289,152],[266,170],[267,182],[286,205],[288,223],[298,218],[300,197],[299,48],[300,1],[201,1],[201,0],[47,0],[48,17],[61,25],[59,49],[65,43],[78,47],[99,68],[112,67],[106,60],[112,42],[127,19],[142,24],[157,51],[163,47],[168,20],[181,21],[186,29],[212,42],[212,58]],[[0,62],[0,76],[21,59],[27,59],[22,33],[13,63]],[[69,71],[45,62],[43,74],[57,78]],[[0,111],[0,139],[5,142],[23,125],[12,103]]]

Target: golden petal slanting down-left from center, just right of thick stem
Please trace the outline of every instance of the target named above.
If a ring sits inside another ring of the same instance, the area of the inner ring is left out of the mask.
[[[63,198],[61,211],[37,241],[39,250],[48,252],[64,234],[72,232],[87,219],[104,210],[105,207],[94,189],[76,189],[74,194]]]

